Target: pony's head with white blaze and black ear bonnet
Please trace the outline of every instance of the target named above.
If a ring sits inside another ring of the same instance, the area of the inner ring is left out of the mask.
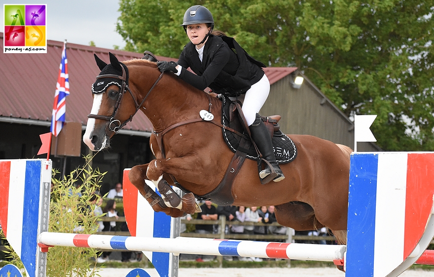
[[[122,97],[127,91],[130,92],[125,64],[111,53],[109,64],[94,56],[101,72],[92,85],[93,105],[83,141],[90,150],[100,151],[109,147],[109,139],[132,119],[135,99],[134,96],[128,99]]]

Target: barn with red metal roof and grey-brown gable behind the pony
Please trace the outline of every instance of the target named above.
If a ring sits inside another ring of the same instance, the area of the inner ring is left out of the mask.
[[[3,45],[3,33],[0,32]],[[47,41],[46,54],[1,54],[0,55],[0,159],[44,158],[37,155],[41,142],[39,134],[50,131],[54,91],[61,60],[63,42]],[[109,52],[119,61],[141,58],[132,52],[109,50],[68,43],[68,71],[70,95],[67,97],[66,128],[75,129],[61,139],[53,141],[53,167],[62,174],[69,173],[83,163],[82,155],[90,154],[81,142],[92,107],[91,84],[99,69],[94,60],[97,54],[109,61]],[[165,57],[159,60],[170,61]],[[270,79],[271,91],[261,110],[262,115],[282,115],[281,129],[285,133],[311,134],[335,143],[354,147],[354,124],[319,91],[295,67],[268,67],[265,73]],[[295,76],[304,77],[300,88],[294,88]],[[107,192],[122,180],[124,168],[144,164],[152,159],[149,150],[151,124],[138,113],[113,138],[111,149],[95,155],[93,168],[107,171],[102,192]],[[62,133],[61,133],[62,134]],[[78,141],[80,140],[80,141]],[[74,154],[70,145],[78,145]],[[56,148],[57,152],[54,152]],[[359,143],[358,151],[378,151],[372,143]]]

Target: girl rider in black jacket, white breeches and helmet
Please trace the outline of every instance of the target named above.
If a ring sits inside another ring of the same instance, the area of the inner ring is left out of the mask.
[[[252,139],[268,161],[259,172],[261,183],[283,180],[285,176],[276,162],[270,135],[258,114],[270,92],[270,83],[261,68],[265,65],[250,57],[233,38],[211,34],[214,19],[204,6],[188,8],[181,26],[190,42],[182,50],[178,63],[158,62],[158,68],[161,72],[174,72],[199,90],[209,87],[231,98],[238,97],[243,102],[242,111]],[[188,67],[197,75],[189,72]]]

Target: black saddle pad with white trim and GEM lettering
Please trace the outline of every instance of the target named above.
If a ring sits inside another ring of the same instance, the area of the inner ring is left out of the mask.
[[[232,101],[227,98],[223,97],[223,109],[222,109],[222,116],[221,116],[221,123],[225,126],[231,127],[235,129],[236,131],[240,133],[244,133],[243,127],[241,123],[236,123],[234,126],[229,126],[229,107]],[[240,147],[240,141],[242,139],[241,136],[237,135],[234,132],[231,132],[230,130],[226,130],[225,128],[222,128],[223,130],[223,139],[225,140],[227,146],[229,149],[232,150],[232,152],[236,152],[237,150],[240,150],[242,152],[247,153],[246,157],[249,159],[257,160],[257,154],[256,150],[254,149],[253,144],[249,141],[246,143],[244,147]],[[246,137],[248,137],[247,134],[245,134]],[[297,150],[295,148],[294,143],[292,140],[282,133],[282,131],[274,132],[273,138],[271,139],[273,143],[274,148],[274,155],[276,156],[276,160],[278,163],[288,163],[292,161],[297,156]]]

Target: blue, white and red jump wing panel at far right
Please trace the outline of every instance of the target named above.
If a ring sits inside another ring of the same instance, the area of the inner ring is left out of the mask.
[[[347,277],[398,276],[431,243],[433,165],[433,153],[352,154]]]

